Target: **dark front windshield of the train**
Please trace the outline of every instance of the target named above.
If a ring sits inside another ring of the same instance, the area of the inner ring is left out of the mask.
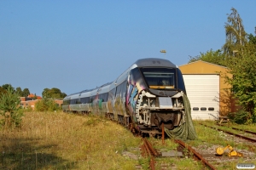
[[[149,88],[175,88],[175,68],[141,68]]]

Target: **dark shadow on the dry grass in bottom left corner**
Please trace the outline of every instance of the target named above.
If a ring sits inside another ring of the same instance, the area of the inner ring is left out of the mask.
[[[73,169],[76,162],[56,156],[56,144],[41,139],[9,139],[0,134],[0,169]]]

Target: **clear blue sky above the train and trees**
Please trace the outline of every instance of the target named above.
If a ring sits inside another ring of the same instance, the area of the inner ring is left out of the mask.
[[[1,0],[0,86],[72,94],[112,82],[137,59],[184,65],[223,46],[232,7],[254,35],[251,0]]]

